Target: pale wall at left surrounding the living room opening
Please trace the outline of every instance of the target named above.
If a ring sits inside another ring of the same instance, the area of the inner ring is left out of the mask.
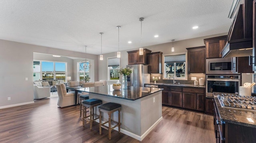
[[[33,53],[84,58],[84,53],[0,39],[0,108],[33,102]],[[98,63],[97,55],[87,54]],[[95,65],[98,71],[98,65]],[[96,72],[97,73],[97,72]],[[96,74],[97,75],[97,74]],[[28,77],[26,81],[25,78]],[[11,97],[11,100],[7,100]]]

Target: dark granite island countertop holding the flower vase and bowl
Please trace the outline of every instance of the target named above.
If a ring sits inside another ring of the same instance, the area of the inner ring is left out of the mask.
[[[127,89],[114,90],[111,85],[106,86],[96,86],[96,87],[87,87],[87,88],[77,88],[75,90],[82,92],[89,92],[94,94],[100,94],[104,96],[110,96],[114,98],[122,98],[126,100],[137,100],[148,96],[150,94],[161,91],[161,88],[152,88],[152,87],[135,87],[128,86]]]

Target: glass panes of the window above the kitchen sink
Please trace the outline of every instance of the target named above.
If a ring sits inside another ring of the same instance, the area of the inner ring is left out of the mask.
[[[186,79],[186,54],[164,56],[164,78]]]

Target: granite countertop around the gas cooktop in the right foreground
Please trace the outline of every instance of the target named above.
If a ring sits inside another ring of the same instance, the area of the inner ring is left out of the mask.
[[[256,127],[256,111],[243,110],[232,107],[222,107],[217,97],[218,94],[222,93],[214,92],[213,94],[221,121],[248,127]]]

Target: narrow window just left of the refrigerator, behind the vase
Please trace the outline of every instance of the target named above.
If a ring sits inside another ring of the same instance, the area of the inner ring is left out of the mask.
[[[108,80],[120,80],[120,58],[108,58]]]

